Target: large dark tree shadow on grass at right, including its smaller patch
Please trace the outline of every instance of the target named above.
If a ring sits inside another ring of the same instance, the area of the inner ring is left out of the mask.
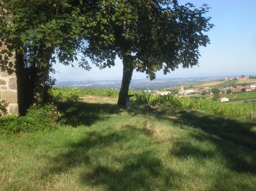
[[[199,128],[205,133],[191,132],[190,136],[200,142],[214,143],[226,160],[227,167],[237,172],[256,173],[256,132],[255,123],[242,123],[225,116],[205,115],[198,111],[168,109],[160,111],[158,118],[168,119],[180,128]],[[182,158],[193,156],[211,158],[213,151],[201,150],[190,142],[176,142],[179,150],[172,152]]]

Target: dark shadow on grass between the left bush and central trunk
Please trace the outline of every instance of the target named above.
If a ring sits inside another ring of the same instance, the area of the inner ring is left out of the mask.
[[[110,114],[123,111],[122,107],[106,103],[58,102],[57,105],[61,112],[61,122],[73,127],[107,120]]]

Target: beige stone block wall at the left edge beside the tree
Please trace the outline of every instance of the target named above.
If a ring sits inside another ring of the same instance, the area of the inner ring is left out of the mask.
[[[0,51],[7,49],[5,42],[0,41]],[[10,58],[0,54],[0,98],[9,103],[9,114],[18,114],[17,76],[15,53]],[[0,111],[1,112],[1,111]]]

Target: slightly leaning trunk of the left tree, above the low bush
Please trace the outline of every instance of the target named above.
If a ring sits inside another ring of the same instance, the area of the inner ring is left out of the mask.
[[[45,48],[41,46],[38,50],[37,63],[37,77],[35,81],[35,86],[33,90],[33,103],[39,103],[43,101],[45,81],[50,68],[50,59],[53,48]]]

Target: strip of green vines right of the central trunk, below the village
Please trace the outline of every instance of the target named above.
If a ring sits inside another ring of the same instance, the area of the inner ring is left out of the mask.
[[[214,115],[248,116],[249,108],[241,105],[225,104],[205,99],[178,97],[171,94],[153,95],[146,93],[135,93],[135,102],[150,103],[163,107],[179,108],[184,110],[199,110]]]

